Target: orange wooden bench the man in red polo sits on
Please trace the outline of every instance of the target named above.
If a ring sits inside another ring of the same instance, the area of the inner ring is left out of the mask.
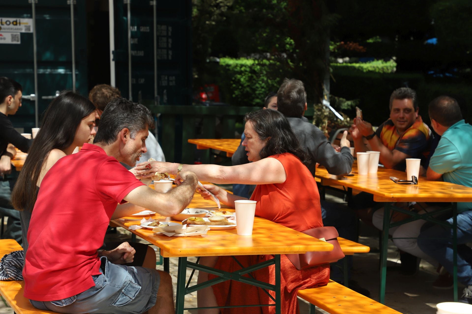
[[[13,251],[23,250],[15,240],[0,240],[0,258]],[[56,312],[43,311],[31,305],[29,300],[23,297],[25,289],[24,281],[0,281],[0,294],[17,314],[56,314]]]

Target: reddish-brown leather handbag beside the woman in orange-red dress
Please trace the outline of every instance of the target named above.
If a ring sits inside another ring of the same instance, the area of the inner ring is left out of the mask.
[[[325,252],[307,252],[305,254],[287,254],[288,259],[295,265],[297,269],[305,269],[313,266],[320,266],[327,263],[337,262],[339,259],[344,258],[345,255],[339,242],[337,242],[337,237],[339,234],[335,227],[318,227],[312,228],[302,233],[311,235],[317,239],[324,238],[326,242],[333,245],[332,251]]]

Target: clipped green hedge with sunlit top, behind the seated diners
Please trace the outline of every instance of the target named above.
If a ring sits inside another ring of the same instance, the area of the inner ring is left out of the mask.
[[[416,90],[420,114],[429,123],[428,103],[439,95],[459,95],[472,103],[472,89],[460,81],[426,79],[422,73],[390,73],[395,63],[374,61],[365,64],[332,64],[331,94],[358,100],[364,119],[379,125],[388,118],[388,102],[394,89],[408,86]],[[222,101],[230,105],[262,106],[269,91],[277,91],[285,77],[292,77],[289,64],[269,60],[221,58],[214,82]],[[309,100],[310,102],[310,100]],[[354,110],[343,109],[350,117]],[[472,121],[472,110],[468,113]]]

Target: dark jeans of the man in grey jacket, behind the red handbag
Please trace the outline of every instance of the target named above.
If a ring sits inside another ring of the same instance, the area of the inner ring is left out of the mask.
[[[346,205],[332,203],[329,201],[321,201],[321,218],[323,225],[333,226],[341,238],[356,241],[356,218],[352,210]],[[351,268],[353,266],[353,256],[346,255],[347,258],[347,276],[351,279]],[[341,259],[331,265],[330,278],[336,282],[343,283],[343,266],[344,261]]]

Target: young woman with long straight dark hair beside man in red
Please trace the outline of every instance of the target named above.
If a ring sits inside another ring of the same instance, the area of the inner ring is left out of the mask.
[[[56,161],[70,155],[76,146],[90,141],[95,134],[94,111],[95,106],[87,98],[64,91],[43,114],[42,127],[30,147],[11,197],[13,207],[20,210],[25,251],[28,247],[26,232],[42,178]]]

